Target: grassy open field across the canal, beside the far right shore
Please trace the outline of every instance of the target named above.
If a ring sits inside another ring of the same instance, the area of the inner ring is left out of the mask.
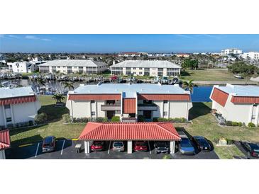
[[[226,69],[187,70],[180,76],[182,80],[195,81],[249,81],[249,79],[237,79]]]

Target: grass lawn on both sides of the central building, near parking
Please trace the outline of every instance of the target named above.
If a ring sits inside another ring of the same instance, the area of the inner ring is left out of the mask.
[[[57,138],[77,138],[82,132],[85,123],[62,124],[62,114],[68,113],[67,108],[55,108],[55,100],[51,96],[40,96],[42,108],[40,112],[48,115],[47,125],[14,129],[10,131],[12,145],[37,142],[48,135]],[[189,112],[192,124],[175,123],[177,130],[185,130],[189,135],[202,135],[214,142],[215,138],[224,137],[232,140],[248,140],[259,142],[258,127],[221,127],[217,125],[214,116],[211,115],[211,103],[193,103]],[[233,155],[243,156],[236,146],[216,147],[215,152],[221,159],[232,159]]]

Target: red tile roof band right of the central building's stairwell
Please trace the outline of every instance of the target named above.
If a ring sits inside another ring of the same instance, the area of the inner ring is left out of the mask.
[[[138,99],[149,101],[190,101],[189,94],[138,94]]]

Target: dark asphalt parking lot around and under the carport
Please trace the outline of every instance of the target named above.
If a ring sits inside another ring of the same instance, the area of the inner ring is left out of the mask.
[[[82,144],[80,153],[75,149],[76,144]],[[111,149],[112,142],[106,142],[104,151],[90,152],[84,154],[84,142],[72,141],[71,139],[60,139],[56,142],[55,152],[43,153],[42,142],[28,144],[23,147],[12,147],[6,150],[6,159],[162,159],[166,154],[156,154],[153,142],[148,142],[147,152],[114,152]],[[126,146],[127,144],[125,144]],[[110,148],[110,149],[109,149]],[[180,152],[171,155],[172,159],[219,159],[214,151],[199,152],[194,156],[182,155]]]

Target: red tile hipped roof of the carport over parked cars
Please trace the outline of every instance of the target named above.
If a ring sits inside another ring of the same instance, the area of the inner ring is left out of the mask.
[[[172,122],[88,122],[84,140],[180,140]]]

